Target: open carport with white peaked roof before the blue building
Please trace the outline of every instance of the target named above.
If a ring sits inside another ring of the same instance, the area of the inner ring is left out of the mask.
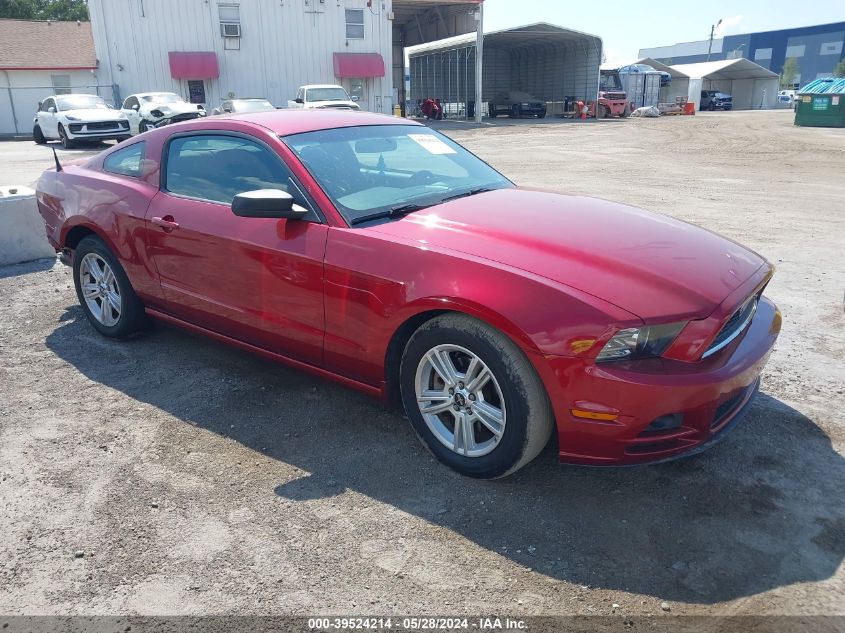
[[[690,87],[694,80],[701,80],[701,87],[694,95],[696,110],[701,102],[701,90],[729,93],[733,96],[735,110],[765,110],[775,107],[778,74],[751,60],[740,57],[698,64],[676,64],[671,68],[689,77]]]

